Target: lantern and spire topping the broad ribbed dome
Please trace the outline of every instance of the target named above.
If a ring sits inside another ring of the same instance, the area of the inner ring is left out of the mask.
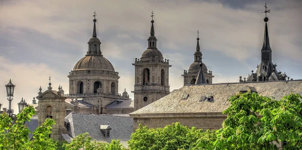
[[[101,41],[100,39],[97,38],[97,29],[96,29],[96,12],[94,12],[94,25],[93,25],[93,34],[92,38],[89,39],[88,41],[88,51],[87,55],[102,55],[102,51],[100,49]]]

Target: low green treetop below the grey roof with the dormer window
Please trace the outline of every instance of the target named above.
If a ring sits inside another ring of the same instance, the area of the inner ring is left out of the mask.
[[[119,140],[112,140],[111,143],[98,142],[89,136],[89,133],[75,136],[70,143],[64,143],[63,147],[69,150],[124,150],[126,149]]]

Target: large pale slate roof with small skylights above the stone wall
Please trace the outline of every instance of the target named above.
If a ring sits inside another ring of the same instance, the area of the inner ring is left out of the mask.
[[[239,93],[247,86],[253,87],[260,95],[274,97],[275,100],[291,92],[302,95],[302,80],[186,85],[130,113],[130,116],[131,114],[222,112],[230,106],[230,101],[227,101],[229,96]],[[189,97],[182,99],[184,94],[189,94]],[[202,96],[213,96],[214,102],[199,101]]]

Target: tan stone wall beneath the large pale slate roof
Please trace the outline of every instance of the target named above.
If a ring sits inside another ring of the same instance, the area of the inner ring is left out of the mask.
[[[156,115],[156,114],[155,114]],[[226,119],[226,115],[222,113],[204,113],[204,114],[161,114],[158,116],[144,117],[144,115],[133,116],[133,129],[138,128],[138,125],[148,126],[148,128],[165,127],[174,122],[179,122],[188,127],[196,127],[203,130],[216,130],[222,127],[222,122]]]

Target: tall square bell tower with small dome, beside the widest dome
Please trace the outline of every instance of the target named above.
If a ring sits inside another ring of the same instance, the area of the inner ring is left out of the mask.
[[[157,38],[154,31],[152,12],[152,25],[148,38],[148,48],[141,58],[135,58],[135,84],[134,84],[134,111],[138,110],[170,93],[169,86],[169,60],[163,57],[157,49]]]

